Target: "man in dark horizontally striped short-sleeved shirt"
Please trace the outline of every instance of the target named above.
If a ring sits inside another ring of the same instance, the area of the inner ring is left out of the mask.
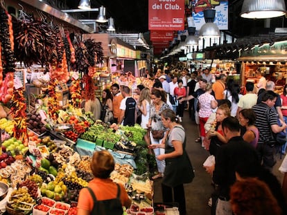
[[[259,141],[256,150],[259,155],[259,159],[262,161],[263,167],[270,170],[272,170],[272,167],[276,162],[273,154],[275,140],[272,138],[272,132],[279,133],[286,129],[286,124],[284,122],[281,127],[277,124],[278,116],[274,109],[276,99],[276,93],[273,91],[266,91],[262,96],[261,103],[252,107],[256,113],[255,126],[259,130]]]

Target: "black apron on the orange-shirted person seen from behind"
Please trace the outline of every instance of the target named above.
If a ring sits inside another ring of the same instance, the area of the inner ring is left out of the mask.
[[[123,214],[123,207],[121,205],[121,188],[118,184],[116,184],[118,187],[118,194],[116,195],[116,198],[113,199],[107,199],[107,200],[96,200],[96,196],[94,194],[94,191],[92,191],[91,188],[86,187],[89,191],[89,194],[91,194],[93,200],[94,200],[94,207],[92,209],[91,214],[101,214],[101,215],[122,215]]]

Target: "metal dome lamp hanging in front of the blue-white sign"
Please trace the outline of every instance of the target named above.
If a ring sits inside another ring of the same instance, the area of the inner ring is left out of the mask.
[[[205,22],[203,26],[201,26],[199,31],[200,38],[218,38],[220,37],[220,30],[216,24],[214,24],[214,18],[216,14],[216,10],[204,10]]]

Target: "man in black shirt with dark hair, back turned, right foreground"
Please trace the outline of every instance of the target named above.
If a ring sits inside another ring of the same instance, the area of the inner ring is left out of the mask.
[[[255,164],[259,161],[256,150],[241,137],[240,124],[236,118],[225,118],[221,127],[227,144],[218,149],[215,165],[206,169],[209,174],[212,174],[212,179],[217,186],[212,196],[211,209],[216,206],[216,214],[232,215],[229,189],[236,181],[236,167],[242,162]]]

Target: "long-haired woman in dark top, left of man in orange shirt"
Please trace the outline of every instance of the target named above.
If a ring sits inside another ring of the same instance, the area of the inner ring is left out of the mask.
[[[114,115],[112,113],[112,93],[109,89],[103,90],[101,120],[105,123],[114,122]]]

